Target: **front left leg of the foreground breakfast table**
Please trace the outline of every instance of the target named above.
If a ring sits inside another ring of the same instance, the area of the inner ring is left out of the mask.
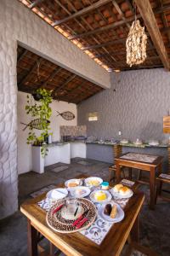
[[[37,256],[37,230],[32,227],[31,220],[27,220],[28,256]]]

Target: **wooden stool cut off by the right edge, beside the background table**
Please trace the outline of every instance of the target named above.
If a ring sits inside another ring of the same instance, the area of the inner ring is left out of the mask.
[[[156,181],[157,181],[156,201],[158,196],[161,197],[163,200],[170,201],[170,198],[161,195],[161,191],[164,191],[162,189],[162,184],[163,183],[170,184],[170,174],[161,173],[158,177],[156,177]]]

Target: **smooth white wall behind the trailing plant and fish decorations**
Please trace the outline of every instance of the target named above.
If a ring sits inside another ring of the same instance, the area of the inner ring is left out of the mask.
[[[26,114],[26,95],[27,93],[18,91],[18,173],[25,173],[31,171],[31,145],[26,144],[26,137],[28,136],[29,129],[22,131],[25,127],[20,122],[28,124],[31,121],[29,115]],[[67,102],[52,102],[52,116],[50,119],[50,127],[53,132],[53,141],[59,141],[59,125],[77,125],[77,105]],[[57,117],[59,113],[71,111],[75,114],[75,119],[66,121],[61,116]]]

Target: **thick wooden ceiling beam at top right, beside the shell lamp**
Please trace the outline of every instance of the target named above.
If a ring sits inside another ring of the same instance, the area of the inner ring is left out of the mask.
[[[142,19],[144,20],[144,24],[147,27],[147,30],[150,33],[150,37],[152,38],[152,42],[156,47],[157,53],[160,56],[163,66],[169,70],[170,64],[167,56],[167,50],[161,38],[161,32],[157,26],[155,15],[150,6],[150,1],[135,0],[135,3],[139,9],[139,13],[142,16]]]

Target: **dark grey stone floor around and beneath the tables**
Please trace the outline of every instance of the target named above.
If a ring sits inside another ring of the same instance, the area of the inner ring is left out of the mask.
[[[62,183],[66,179],[86,173],[90,176],[99,176],[108,180],[109,164],[90,160],[92,165],[78,164],[80,159],[72,160],[69,168],[61,172],[53,172],[47,168],[43,174],[28,172],[19,177],[19,203],[30,198],[30,194],[42,187],[54,183]],[[58,166],[58,165],[57,165]],[[55,167],[55,166],[54,166]],[[142,188],[144,191],[147,189]],[[158,202],[155,211],[150,211],[144,205],[140,213],[140,241],[144,246],[152,247],[158,255],[170,255],[170,205],[167,202]],[[26,218],[15,212],[9,218],[0,221],[0,255],[1,256],[26,256]],[[44,241],[45,243],[45,241]],[[137,255],[137,254],[135,254]],[[138,254],[139,255],[139,254]]]

